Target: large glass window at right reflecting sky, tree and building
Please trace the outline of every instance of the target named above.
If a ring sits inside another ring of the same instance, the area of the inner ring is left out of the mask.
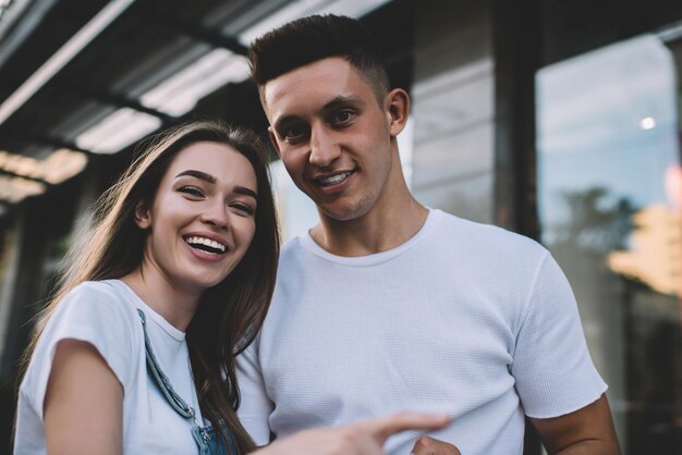
[[[679,41],[647,35],[536,81],[541,241],[573,285],[626,454],[682,453],[680,62]]]

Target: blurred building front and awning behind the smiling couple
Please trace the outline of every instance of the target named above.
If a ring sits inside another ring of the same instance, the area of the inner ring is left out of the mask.
[[[0,452],[31,320],[89,206],[163,127],[265,134],[247,46],[326,12],[374,29],[412,96],[416,197],[548,247],[623,453],[681,454],[679,0],[0,0]],[[317,214],[271,167],[289,238]]]

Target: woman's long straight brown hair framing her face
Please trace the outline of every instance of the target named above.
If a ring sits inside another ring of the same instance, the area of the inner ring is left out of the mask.
[[[267,171],[267,152],[247,130],[215,122],[194,122],[155,137],[121,179],[97,201],[94,224],[64,260],[58,291],[37,317],[24,355],[31,358],[48,319],[62,298],[85,281],[121,278],[142,263],[146,232],[134,222],[139,201],[151,206],[163,174],[179,151],[198,142],[224,144],[251,162],[256,173],[256,232],[244,258],[218,285],[207,290],[186,331],[194,382],[202,414],[214,428],[224,421],[240,454],[255,444],[236,417],[240,393],[235,356],[263,325],[275,288],[280,237]],[[222,434],[226,443],[228,434]]]

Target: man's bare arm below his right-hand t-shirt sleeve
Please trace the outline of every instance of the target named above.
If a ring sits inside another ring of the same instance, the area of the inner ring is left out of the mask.
[[[620,454],[606,395],[565,416],[531,421],[550,455]]]

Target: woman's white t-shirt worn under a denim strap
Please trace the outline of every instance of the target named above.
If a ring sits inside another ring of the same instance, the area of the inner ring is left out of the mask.
[[[173,389],[200,413],[184,332],[145,305],[122,281],[86,282],[59,304],[31,359],[19,392],[15,454],[46,453],[42,405],[54,348],[62,340],[90,343],[123,385],[124,454],[198,453],[192,423],[173,410],[147,373],[137,308],[146,315],[151,347]],[[202,421],[200,415],[198,418]]]

